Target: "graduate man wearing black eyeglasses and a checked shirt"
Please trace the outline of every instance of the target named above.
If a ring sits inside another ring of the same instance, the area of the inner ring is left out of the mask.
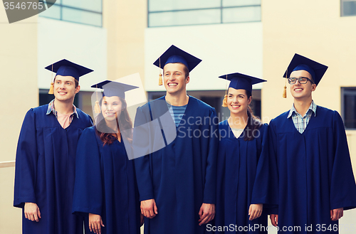
[[[327,69],[295,54],[283,75],[294,103],[268,129],[279,176],[278,213],[271,215],[271,222],[281,233],[338,233],[343,211],[356,207],[342,119],[312,98]]]

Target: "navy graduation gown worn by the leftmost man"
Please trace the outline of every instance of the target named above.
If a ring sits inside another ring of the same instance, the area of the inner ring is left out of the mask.
[[[83,218],[72,214],[75,151],[81,132],[93,125],[77,108],[69,127],[46,115],[48,105],[29,110],[16,151],[14,206],[36,203],[41,219],[22,218],[23,233],[83,233]]]

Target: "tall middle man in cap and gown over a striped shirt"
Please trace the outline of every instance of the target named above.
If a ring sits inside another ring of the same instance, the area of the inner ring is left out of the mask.
[[[164,65],[166,95],[137,109],[135,129],[157,119],[161,127],[154,138],[134,130],[134,151],[145,139],[155,145],[161,131],[165,142],[161,149],[135,159],[147,234],[204,233],[206,223],[214,218],[218,121],[214,108],[187,95],[186,88],[189,72],[200,62],[171,46],[154,63]],[[170,143],[164,129],[169,121],[159,120],[166,112],[177,132]]]

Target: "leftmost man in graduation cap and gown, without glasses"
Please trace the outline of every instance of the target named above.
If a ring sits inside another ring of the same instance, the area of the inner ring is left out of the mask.
[[[23,209],[23,233],[83,233],[83,218],[72,214],[75,152],[80,133],[92,119],[73,105],[79,77],[88,68],[61,60],[54,100],[28,110],[16,151],[14,206]],[[51,88],[52,90],[52,88]]]

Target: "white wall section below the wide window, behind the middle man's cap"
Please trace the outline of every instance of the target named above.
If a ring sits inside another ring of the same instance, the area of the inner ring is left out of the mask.
[[[159,68],[152,63],[172,44],[202,60],[190,73],[187,90],[225,90],[226,82],[218,77],[228,73],[263,75],[261,22],[146,28],[147,91],[164,91],[158,85]]]

